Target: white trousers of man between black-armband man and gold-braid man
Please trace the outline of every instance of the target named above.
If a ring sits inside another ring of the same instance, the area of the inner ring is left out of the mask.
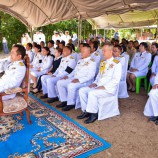
[[[59,98],[61,102],[67,101],[67,105],[75,105],[77,95],[78,95],[78,90],[85,86],[85,84],[82,83],[72,83],[71,79],[66,79],[66,80],[59,80],[57,82],[57,89],[59,93]]]

